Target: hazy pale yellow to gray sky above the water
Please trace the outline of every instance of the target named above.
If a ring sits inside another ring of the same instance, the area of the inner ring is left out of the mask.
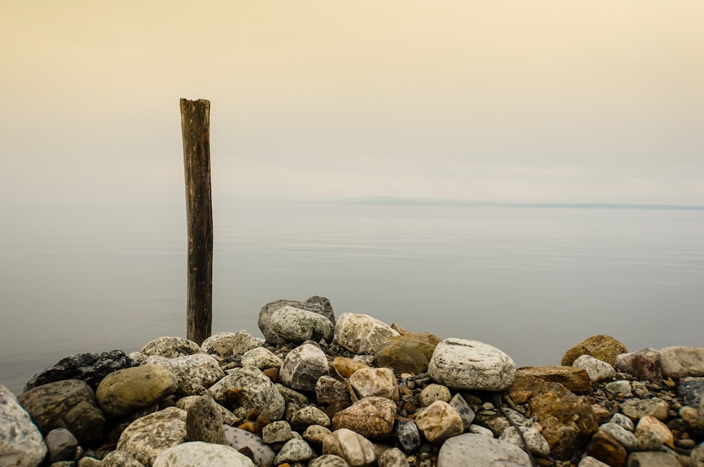
[[[197,3],[197,4],[196,4]],[[0,0],[0,195],[704,205],[701,0]]]

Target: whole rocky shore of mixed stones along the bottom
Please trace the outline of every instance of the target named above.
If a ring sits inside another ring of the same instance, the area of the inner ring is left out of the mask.
[[[517,369],[321,297],[271,302],[258,326],[0,385],[0,467],[704,467],[704,348],[596,335]]]

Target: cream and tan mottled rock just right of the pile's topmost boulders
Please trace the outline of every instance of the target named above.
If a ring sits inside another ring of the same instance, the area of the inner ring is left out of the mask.
[[[390,326],[367,314],[343,313],[334,330],[334,341],[356,354],[373,355],[386,339],[398,336]]]

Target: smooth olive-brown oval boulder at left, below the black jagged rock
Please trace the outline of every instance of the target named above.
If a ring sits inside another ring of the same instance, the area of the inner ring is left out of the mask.
[[[178,380],[170,369],[134,366],[106,376],[98,386],[96,399],[106,416],[119,418],[161,402],[177,388]]]

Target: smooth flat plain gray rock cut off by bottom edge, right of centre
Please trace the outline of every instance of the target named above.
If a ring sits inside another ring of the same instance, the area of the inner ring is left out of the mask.
[[[510,442],[466,433],[448,439],[440,448],[438,467],[530,467],[520,447]]]

